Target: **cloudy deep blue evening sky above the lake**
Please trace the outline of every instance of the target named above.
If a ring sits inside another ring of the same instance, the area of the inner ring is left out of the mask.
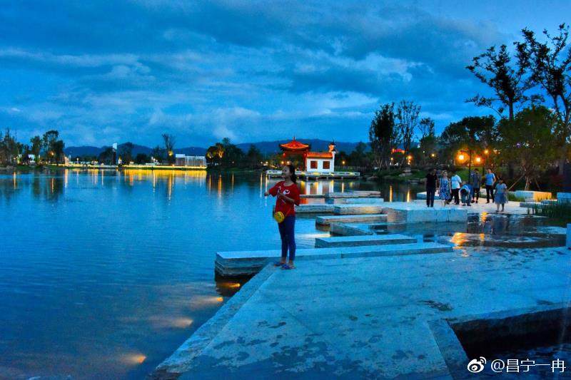
[[[373,4],[378,3],[378,4]],[[3,1],[0,128],[66,145],[368,140],[380,103],[440,132],[482,115],[465,69],[569,1]]]

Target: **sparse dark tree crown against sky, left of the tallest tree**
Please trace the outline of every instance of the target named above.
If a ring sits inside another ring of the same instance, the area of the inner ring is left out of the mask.
[[[485,97],[477,94],[466,100],[476,106],[492,108],[499,115],[507,107],[510,120],[514,117],[514,106],[518,103],[537,99],[536,96],[528,97],[525,91],[533,85],[527,81],[530,56],[525,51],[517,51],[515,68],[512,67],[512,58],[507,52],[507,46],[500,46],[500,51],[495,46],[487,49],[485,53],[473,58],[473,64],[466,66],[476,78],[492,88],[494,97]],[[500,103],[498,106],[497,103]]]

